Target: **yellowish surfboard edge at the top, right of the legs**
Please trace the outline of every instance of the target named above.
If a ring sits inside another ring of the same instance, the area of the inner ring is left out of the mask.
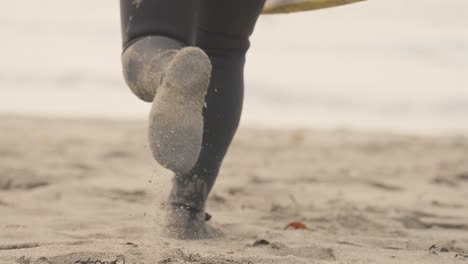
[[[356,3],[365,0],[267,0],[263,14],[293,13]]]

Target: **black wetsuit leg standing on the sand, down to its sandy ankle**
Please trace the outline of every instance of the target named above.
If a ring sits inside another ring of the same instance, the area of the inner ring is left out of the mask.
[[[208,54],[213,67],[203,110],[203,144],[194,169],[175,178],[173,204],[204,211],[239,124],[245,55],[263,5],[264,0],[201,1],[196,44]]]

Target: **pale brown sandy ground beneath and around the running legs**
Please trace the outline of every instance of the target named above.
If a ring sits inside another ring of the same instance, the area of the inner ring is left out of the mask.
[[[180,241],[144,122],[0,131],[2,264],[468,263],[466,135],[241,128],[207,207],[224,235]]]

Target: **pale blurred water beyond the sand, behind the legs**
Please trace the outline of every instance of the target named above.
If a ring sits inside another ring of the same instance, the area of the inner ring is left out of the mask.
[[[118,1],[5,1],[0,112],[145,119],[120,69]],[[242,123],[468,128],[468,2],[369,0],[262,16]]]

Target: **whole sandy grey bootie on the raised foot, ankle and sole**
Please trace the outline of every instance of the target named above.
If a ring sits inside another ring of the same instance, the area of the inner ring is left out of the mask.
[[[149,36],[123,52],[122,64],[132,92],[153,102],[148,128],[153,157],[176,174],[189,172],[202,145],[202,112],[211,77],[208,56],[173,39]]]

